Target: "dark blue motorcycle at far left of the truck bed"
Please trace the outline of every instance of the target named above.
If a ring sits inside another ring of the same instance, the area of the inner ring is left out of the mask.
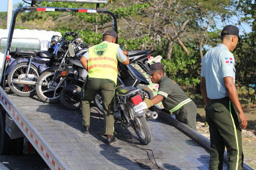
[[[52,42],[57,44],[60,38],[54,35]],[[49,51],[21,51],[16,49],[14,56],[7,63],[9,67],[6,75],[9,88],[20,96],[35,95],[36,81],[43,70],[52,67],[52,63],[56,61],[55,55]]]

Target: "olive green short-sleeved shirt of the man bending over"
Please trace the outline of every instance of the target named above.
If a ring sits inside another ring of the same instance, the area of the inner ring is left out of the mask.
[[[171,110],[180,102],[189,98],[175,81],[165,76],[162,76],[159,81],[157,94],[164,97],[162,103],[166,110]]]

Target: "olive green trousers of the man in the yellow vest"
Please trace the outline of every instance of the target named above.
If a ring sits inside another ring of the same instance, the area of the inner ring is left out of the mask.
[[[114,93],[115,83],[109,79],[88,78],[82,98],[83,124],[90,126],[90,102],[99,93],[104,109],[104,135],[114,132]]]

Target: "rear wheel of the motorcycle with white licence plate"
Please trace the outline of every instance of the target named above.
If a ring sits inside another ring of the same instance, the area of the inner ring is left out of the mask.
[[[133,129],[139,137],[142,144],[149,144],[151,142],[151,132],[147,124],[145,116],[138,117],[135,115],[133,108],[129,108],[128,112],[133,117]]]

